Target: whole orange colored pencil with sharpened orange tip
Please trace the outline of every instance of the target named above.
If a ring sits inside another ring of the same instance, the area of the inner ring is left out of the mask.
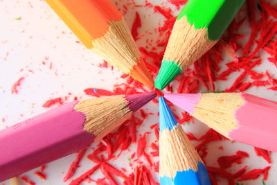
[[[109,0],[46,0],[82,44],[152,89],[154,82],[124,17]]]

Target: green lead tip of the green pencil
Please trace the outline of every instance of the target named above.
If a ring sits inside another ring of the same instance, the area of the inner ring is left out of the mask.
[[[155,87],[162,90],[182,72],[183,70],[181,67],[175,62],[163,60],[161,63],[161,69],[155,81]]]

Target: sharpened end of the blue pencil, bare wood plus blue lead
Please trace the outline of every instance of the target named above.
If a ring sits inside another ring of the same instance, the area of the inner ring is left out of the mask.
[[[159,98],[160,111],[160,176],[174,178],[177,171],[197,171],[202,161],[190,143],[163,97]]]

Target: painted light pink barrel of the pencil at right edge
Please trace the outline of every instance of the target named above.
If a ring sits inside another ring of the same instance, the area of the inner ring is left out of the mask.
[[[231,139],[277,152],[277,103],[240,94],[244,105],[235,112],[238,127],[229,133]]]

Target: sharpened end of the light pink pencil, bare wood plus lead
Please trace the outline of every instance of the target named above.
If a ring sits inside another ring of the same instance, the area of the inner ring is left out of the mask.
[[[240,93],[166,94],[165,97],[227,138],[238,127],[234,114],[244,104]]]

